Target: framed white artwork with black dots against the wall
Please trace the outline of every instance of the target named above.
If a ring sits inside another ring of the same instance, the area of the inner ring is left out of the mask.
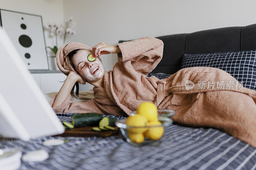
[[[0,25],[29,70],[49,70],[42,16],[0,9]]]

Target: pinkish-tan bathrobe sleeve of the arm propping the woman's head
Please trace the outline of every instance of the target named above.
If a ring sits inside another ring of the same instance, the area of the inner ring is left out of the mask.
[[[57,94],[56,94],[57,95]],[[50,102],[50,106],[52,107],[53,102],[56,98],[56,95]],[[52,107],[55,113],[99,113],[105,115],[122,115],[127,116],[125,112],[114,105],[112,102],[108,103],[108,101],[104,100],[103,103],[97,102],[96,98],[88,100],[86,102],[69,102],[70,94],[67,99],[64,100],[59,106]]]

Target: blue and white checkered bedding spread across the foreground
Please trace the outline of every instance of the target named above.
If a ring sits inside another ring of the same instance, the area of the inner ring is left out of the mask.
[[[74,114],[57,114],[71,122]],[[103,115],[111,116],[111,115]],[[117,120],[123,116],[111,116]],[[44,146],[51,138],[68,139],[58,146]],[[20,169],[255,169],[256,148],[214,128],[169,126],[157,146],[136,147],[122,134],[101,137],[41,137],[23,142],[0,141],[0,148],[15,147],[22,154],[44,149],[43,162],[24,162]]]

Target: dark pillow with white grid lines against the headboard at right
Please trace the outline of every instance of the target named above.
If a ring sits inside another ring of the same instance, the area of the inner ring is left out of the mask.
[[[219,68],[244,87],[256,90],[256,51],[183,55],[181,69],[196,66]]]

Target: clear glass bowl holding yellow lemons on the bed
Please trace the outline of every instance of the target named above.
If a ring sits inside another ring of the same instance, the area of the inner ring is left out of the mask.
[[[153,127],[164,127],[164,133],[167,129],[168,126],[170,126],[172,124],[172,115],[174,115],[176,112],[173,110],[168,110],[168,109],[158,109],[157,110],[158,113],[158,121],[162,123],[162,125],[157,125],[157,126],[147,126],[146,128],[153,128]],[[134,116],[136,114],[136,111],[133,111],[130,113],[131,116]],[[152,139],[148,139],[147,137],[145,137],[145,140],[142,143],[135,143],[133,141],[131,141],[128,137],[128,128],[132,128],[132,129],[141,129],[141,128],[145,128],[145,127],[134,127],[134,126],[128,126],[125,124],[126,119],[121,119],[116,121],[116,126],[120,129],[122,135],[124,136],[125,140],[135,146],[142,146],[145,144],[151,144],[151,145],[157,145],[160,143],[161,138],[158,140],[152,140]]]

